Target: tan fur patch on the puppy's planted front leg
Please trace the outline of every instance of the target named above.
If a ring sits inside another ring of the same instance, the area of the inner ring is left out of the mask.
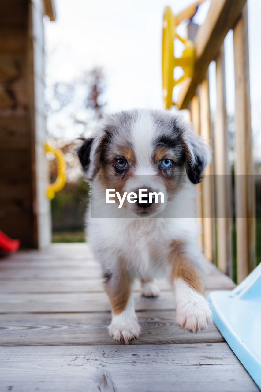
[[[119,263],[117,279],[104,283],[104,289],[110,299],[113,314],[123,312],[130,297],[130,277],[121,264]]]

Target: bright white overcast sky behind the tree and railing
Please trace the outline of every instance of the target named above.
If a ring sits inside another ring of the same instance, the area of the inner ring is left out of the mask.
[[[107,88],[106,111],[133,107],[162,109],[161,30],[164,7],[173,13],[192,0],[55,0],[55,22],[45,19],[46,82],[70,81],[83,71],[101,66]],[[194,22],[201,24],[209,0],[199,7]],[[255,145],[261,148],[261,1],[248,0],[250,95]],[[184,25],[180,32],[184,31]],[[225,42],[227,103],[234,110],[232,34]],[[210,70],[211,72],[211,70]],[[213,73],[213,69],[212,69]],[[214,107],[214,94],[211,96]],[[73,130],[72,137],[74,137]],[[256,153],[258,153],[256,151]]]

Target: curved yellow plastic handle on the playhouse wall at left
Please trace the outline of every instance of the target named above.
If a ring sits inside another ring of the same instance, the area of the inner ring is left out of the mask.
[[[48,199],[53,199],[55,194],[63,189],[66,183],[66,163],[64,155],[61,150],[53,149],[49,144],[45,144],[45,152],[53,152],[57,159],[57,177],[54,183],[48,185],[46,188],[46,196]]]

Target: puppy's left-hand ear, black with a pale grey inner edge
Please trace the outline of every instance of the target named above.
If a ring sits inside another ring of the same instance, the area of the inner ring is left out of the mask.
[[[81,162],[84,174],[91,181],[100,169],[101,136],[92,138],[80,138],[82,144],[78,148],[78,158]]]

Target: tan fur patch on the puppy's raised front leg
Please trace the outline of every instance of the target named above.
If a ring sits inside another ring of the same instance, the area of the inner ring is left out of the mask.
[[[182,279],[192,289],[204,295],[203,276],[201,271],[188,260],[182,241],[173,241],[170,247],[169,263],[172,266],[171,282]]]

